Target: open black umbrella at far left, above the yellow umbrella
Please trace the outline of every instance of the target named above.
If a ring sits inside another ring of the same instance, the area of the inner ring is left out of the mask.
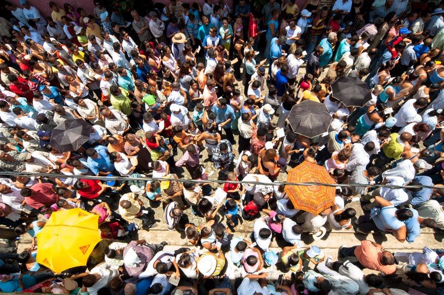
[[[50,144],[58,151],[77,150],[89,140],[91,125],[82,119],[69,119],[52,130]]]

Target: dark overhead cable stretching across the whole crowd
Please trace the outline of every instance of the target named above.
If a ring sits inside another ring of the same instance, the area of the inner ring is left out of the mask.
[[[252,182],[252,181],[224,181],[224,180],[193,180],[193,179],[176,179],[176,178],[153,178],[153,177],[122,177],[122,176],[89,176],[89,175],[65,175],[59,173],[29,173],[29,172],[12,172],[12,171],[2,171],[0,175],[3,176],[41,176],[48,178],[76,178],[76,179],[92,179],[92,180],[101,180],[101,181],[177,181],[177,182],[190,182],[196,184],[254,184],[254,185],[320,185],[320,186],[330,186],[330,187],[387,187],[391,189],[399,189],[399,188],[437,188],[443,189],[443,186],[435,186],[435,185],[393,185],[393,184],[325,184],[325,183],[316,183],[316,182],[307,182],[307,183],[290,183],[290,182],[272,182],[272,183],[264,183],[264,182]]]

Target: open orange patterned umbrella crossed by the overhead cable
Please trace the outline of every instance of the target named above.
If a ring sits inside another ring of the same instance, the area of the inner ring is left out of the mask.
[[[323,166],[303,161],[289,171],[288,183],[323,183],[335,184]],[[289,199],[296,209],[318,215],[334,204],[336,188],[325,185],[285,185]]]

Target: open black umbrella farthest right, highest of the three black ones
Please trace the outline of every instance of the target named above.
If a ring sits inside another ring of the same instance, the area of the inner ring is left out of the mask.
[[[371,99],[369,85],[357,77],[337,78],[332,83],[332,93],[346,107],[363,107]]]

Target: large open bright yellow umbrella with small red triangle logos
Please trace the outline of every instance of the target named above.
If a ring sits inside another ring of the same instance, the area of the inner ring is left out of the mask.
[[[37,263],[56,273],[68,268],[86,265],[97,243],[99,216],[80,208],[51,214],[37,234]]]

